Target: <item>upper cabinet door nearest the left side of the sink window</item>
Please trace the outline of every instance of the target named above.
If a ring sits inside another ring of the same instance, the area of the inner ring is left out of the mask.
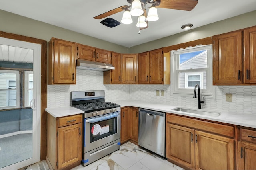
[[[162,84],[163,82],[163,56],[162,49],[149,52],[150,84]]]

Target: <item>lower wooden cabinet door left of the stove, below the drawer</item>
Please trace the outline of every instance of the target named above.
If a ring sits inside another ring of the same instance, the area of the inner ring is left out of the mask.
[[[58,129],[58,169],[82,160],[82,123]]]

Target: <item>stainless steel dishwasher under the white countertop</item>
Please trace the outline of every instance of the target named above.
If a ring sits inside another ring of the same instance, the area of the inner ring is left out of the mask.
[[[138,144],[160,156],[165,154],[165,113],[139,109]]]

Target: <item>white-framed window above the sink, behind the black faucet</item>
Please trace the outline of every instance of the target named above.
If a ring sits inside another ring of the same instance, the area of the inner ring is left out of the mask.
[[[212,45],[198,45],[171,51],[171,93],[190,96],[196,84],[204,96],[215,98],[212,86]]]

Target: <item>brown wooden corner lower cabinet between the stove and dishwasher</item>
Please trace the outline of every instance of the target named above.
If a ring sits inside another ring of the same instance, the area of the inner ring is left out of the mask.
[[[137,107],[121,108],[121,143],[132,140],[138,143],[139,110]]]

